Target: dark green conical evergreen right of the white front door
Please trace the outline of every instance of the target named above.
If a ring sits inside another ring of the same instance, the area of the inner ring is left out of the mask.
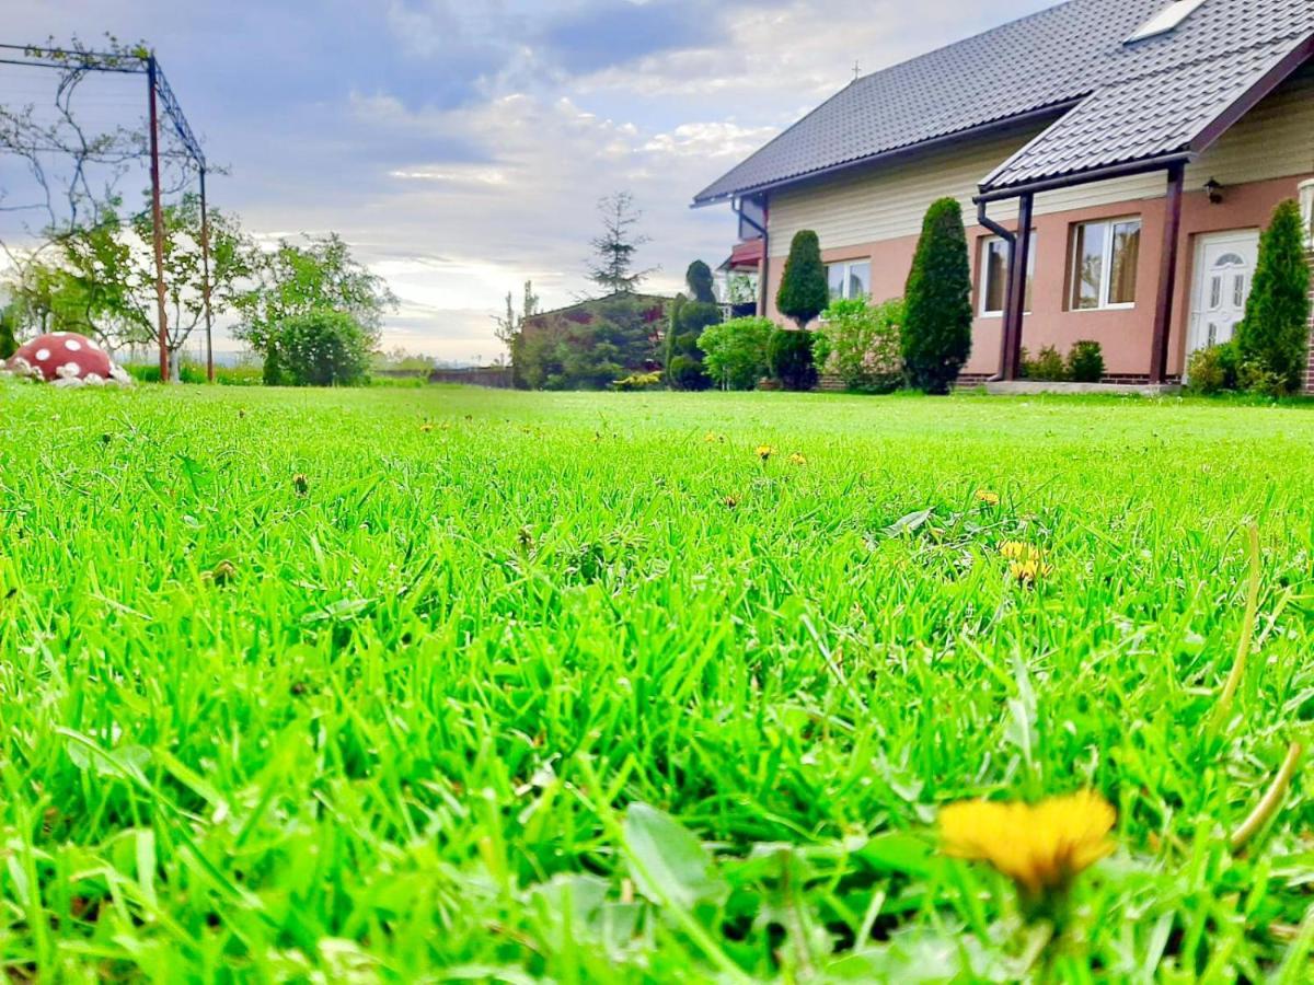
[[[1286,393],[1298,390],[1309,359],[1310,267],[1296,201],[1281,202],[1259,240],[1259,264],[1236,327],[1243,361],[1257,364]]]

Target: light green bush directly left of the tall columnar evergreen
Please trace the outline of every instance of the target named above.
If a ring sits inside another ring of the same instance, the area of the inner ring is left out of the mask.
[[[825,310],[812,345],[823,373],[834,373],[857,393],[891,393],[903,382],[899,326],[903,298],[869,305],[834,301]]]

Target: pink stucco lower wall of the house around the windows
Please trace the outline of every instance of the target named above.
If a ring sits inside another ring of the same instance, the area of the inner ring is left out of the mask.
[[[1297,194],[1297,186],[1309,175],[1256,181],[1223,189],[1223,201],[1214,205],[1204,190],[1188,190],[1183,201],[1181,240],[1177,255],[1177,288],[1173,298],[1173,320],[1168,345],[1168,374],[1183,372],[1187,326],[1193,294],[1196,238],[1208,232],[1257,230],[1268,225],[1273,208]],[[1166,179],[1167,181],[1167,179]],[[929,205],[929,202],[928,202]],[[1150,372],[1150,345],[1154,332],[1155,299],[1159,292],[1166,198],[1114,202],[1092,209],[1053,213],[1035,217],[1035,274],[1031,311],[1022,328],[1022,345],[1037,352],[1054,345],[1066,353],[1074,343],[1093,339],[1104,348],[1109,376],[1144,376]],[[1110,311],[1071,311],[1067,305],[1068,253],[1072,226],[1092,219],[1139,215],[1142,221],[1141,259],[1137,268],[1137,303],[1133,309]],[[975,217],[968,217],[975,218]],[[1004,223],[1009,226],[1009,223]],[[1016,229],[1016,226],[1010,226]],[[980,243],[989,232],[975,223],[967,227],[972,263],[972,310],[980,310],[979,261]],[[903,236],[857,247],[827,250],[827,263],[871,260],[872,297],[878,301],[903,294],[916,236]],[[769,269],[769,314],[782,324],[775,310],[775,294],[784,261],[773,257]],[[972,355],[964,373],[991,374],[999,369],[1001,319],[978,318],[972,328]]]

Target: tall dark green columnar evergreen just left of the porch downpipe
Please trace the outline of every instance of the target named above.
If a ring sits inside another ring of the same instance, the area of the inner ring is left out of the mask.
[[[963,211],[941,198],[926,211],[908,274],[903,359],[911,386],[949,393],[972,349],[971,293]]]

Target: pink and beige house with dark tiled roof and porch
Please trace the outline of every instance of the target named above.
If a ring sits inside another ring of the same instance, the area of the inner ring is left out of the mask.
[[[1162,383],[1231,338],[1261,227],[1297,196],[1314,222],[1311,179],[1314,0],[1070,0],[854,80],[695,205],[732,204],[779,319],[795,232],[819,234],[834,297],[897,297],[953,196],[964,378],[1093,339],[1108,381]]]

